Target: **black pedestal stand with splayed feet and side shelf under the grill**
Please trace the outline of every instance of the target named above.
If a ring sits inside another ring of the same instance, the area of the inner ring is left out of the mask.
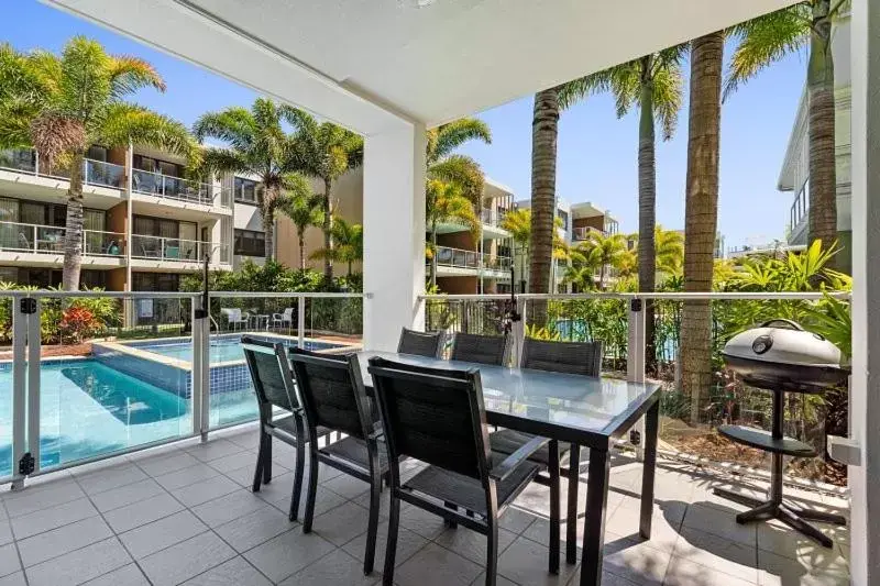
[[[782,417],[784,409],[782,401],[785,392],[783,389],[769,390],[772,390],[773,392],[773,424],[770,439],[774,440],[776,443],[779,443],[783,440]],[[729,438],[734,442],[745,443],[740,438],[737,436],[737,434],[733,433],[735,430],[739,430],[741,428],[730,427],[727,432],[725,432],[723,428],[718,428],[719,433]],[[751,444],[760,450],[771,452],[772,466],[770,468],[770,500],[761,501],[756,498],[734,493],[732,490],[726,490],[724,488],[716,488],[714,490],[715,495],[733,500],[734,502],[739,502],[740,505],[745,505],[747,507],[754,507],[751,510],[737,515],[737,523],[745,524],[751,521],[779,519],[792,529],[795,529],[804,535],[815,540],[821,545],[825,548],[832,548],[834,545],[832,539],[806,521],[810,520],[832,524],[846,524],[846,519],[839,515],[802,509],[800,507],[782,502],[782,457],[784,454],[783,452],[779,451],[778,447],[770,446],[770,443],[771,442],[768,442],[768,445],[762,446]]]

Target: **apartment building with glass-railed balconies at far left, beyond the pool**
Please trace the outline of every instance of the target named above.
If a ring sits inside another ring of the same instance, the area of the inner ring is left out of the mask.
[[[84,161],[81,285],[179,290],[180,276],[232,268],[232,192],[185,178],[185,161],[94,145]],[[0,152],[0,280],[57,286],[69,169],[33,150]]]

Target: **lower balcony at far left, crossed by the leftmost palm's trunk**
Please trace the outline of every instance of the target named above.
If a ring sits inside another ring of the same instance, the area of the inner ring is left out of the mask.
[[[0,264],[61,267],[67,230],[54,225],[0,222]],[[82,231],[82,266],[116,268],[125,264],[125,235]]]

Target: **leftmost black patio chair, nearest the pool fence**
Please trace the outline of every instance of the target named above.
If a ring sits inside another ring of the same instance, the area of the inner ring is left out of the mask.
[[[260,450],[256,455],[252,489],[254,493],[258,493],[261,485],[272,482],[273,438],[296,447],[294,490],[290,495],[288,513],[288,518],[295,521],[299,513],[299,497],[302,491],[302,475],[306,465],[305,444],[311,435],[306,434],[305,431],[302,409],[296,398],[290,363],[287,362],[287,349],[284,344],[273,344],[250,335],[241,338],[241,345],[260,406]],[[273,417],[275,408],[280,408],[286,413]],[[329,430],[321,429],[314,436],[317,441],[317,438],[326,436],[329,433]]]

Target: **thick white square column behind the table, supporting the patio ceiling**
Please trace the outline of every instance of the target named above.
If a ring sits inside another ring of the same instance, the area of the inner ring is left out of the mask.
[[[364,347],[396,350],[425,314],[425,126],[395,124],[364,144]]]

